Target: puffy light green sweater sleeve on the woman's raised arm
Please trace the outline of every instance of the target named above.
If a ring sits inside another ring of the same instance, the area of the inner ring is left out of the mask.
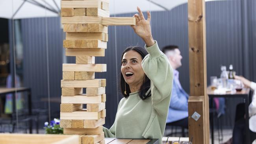
[[[143,59],[142,67],[151,80],[152,106],[160,116],[166,116],[173,87],[173,69],[157,42],[145,48],[149,54]]]

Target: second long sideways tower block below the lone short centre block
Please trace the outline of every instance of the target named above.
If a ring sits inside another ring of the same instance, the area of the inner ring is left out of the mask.
[[[61,87],[106,87],[106,79],[61,80]]]

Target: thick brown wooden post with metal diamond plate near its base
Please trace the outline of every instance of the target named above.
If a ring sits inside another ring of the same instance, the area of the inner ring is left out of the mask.
[[[188,29],[190,77],[190,96],[188,102],[189,139],[191,140],[193,137],[193,144],[209,144],[209,100],[206,94],[206,26],[204,0],[188,0]],[[193,114],[197,115],[194,117]]]

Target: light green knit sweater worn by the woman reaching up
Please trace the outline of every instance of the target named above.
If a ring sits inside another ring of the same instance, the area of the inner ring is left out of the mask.
[[[173,69],[157,42],[146,49],[149,54],[143,59],[142,67],[151,80],[151,96],[141,100],[139,93],[134,92],[122,98],[113,126],[103,129],[105,137],[162,140],[173,87]]]

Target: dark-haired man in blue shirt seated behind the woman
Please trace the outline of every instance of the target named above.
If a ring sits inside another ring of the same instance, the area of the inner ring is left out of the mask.
[[[169,105],[169,113],[166,121],[168,126],[181,126],[188,128],[188,98],[189,95],[182,88],[179,80],[179,72],[176,70],[182,66],[180,50],[178,46],[169,45],[162,49],[162,52],[167,56],[171,66],[173,67],[173,90],[171,102]],[[169,88],[171,89],[171,87]]]

